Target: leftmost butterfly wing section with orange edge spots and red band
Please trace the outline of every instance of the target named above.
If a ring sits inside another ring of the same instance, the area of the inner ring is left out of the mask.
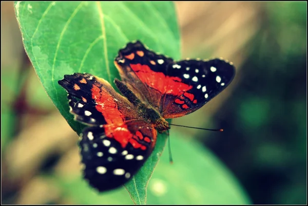
[[[83,124],[122,125],[140,118],[133,105],[104,79],[88,73],[74,73],[65,75],[59,84],[68,92],[70,113]]]

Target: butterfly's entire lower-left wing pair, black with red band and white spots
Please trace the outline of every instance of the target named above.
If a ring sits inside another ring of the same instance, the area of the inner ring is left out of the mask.
[[[79,143],[84,177],[99,191],[124,184],[151,154],[156,129],[103,79],[74,73],[59,84],[68,92],[74,119],[88,125]]]

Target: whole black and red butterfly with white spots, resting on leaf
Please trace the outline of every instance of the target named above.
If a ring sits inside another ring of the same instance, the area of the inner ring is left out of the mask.
[[[140,41],[120,49],[114,60],[121,81],[114,84],[89,73],[65,75],[58,83],[68,92],[81,133],[83,175],[98,191],[118,188],[150,156],[166,119],[192,113],[225,89],[235,76],[222,59],[174,61]]]

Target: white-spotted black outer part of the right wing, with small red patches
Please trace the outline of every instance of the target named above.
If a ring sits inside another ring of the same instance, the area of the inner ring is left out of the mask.
[[[222,59],[183,60],[168,65],[166,74],[189,86],[177,95],[165,95],[162,116],[168,119],[192,113],[217,96],[232,82],[235,68]]]

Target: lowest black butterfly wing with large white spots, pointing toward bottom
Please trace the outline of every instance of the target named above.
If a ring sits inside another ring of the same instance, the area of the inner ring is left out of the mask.
[[[112,129],[87,127],[79,142],[84,178],[100,192],[118,188],[127,182],[149,157],[157,132],[150,124],[129,122]],[[127,141],[119,142],[114,136]]]

